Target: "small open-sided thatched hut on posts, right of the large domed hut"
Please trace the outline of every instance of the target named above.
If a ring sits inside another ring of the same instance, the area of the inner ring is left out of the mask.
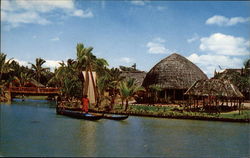
[[[194,106],[240,106],[244,98],[239,89],[228,80],[210,79],[196,81],[186,92]],[[224,105],[225,104],[225,105]]]

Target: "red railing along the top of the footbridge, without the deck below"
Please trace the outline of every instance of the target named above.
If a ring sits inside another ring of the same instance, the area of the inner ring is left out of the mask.
[[[52,87],[47,87],[47,88],[38,88],[38,87],[11,87],[10,92],[14,93],[60,93],[59,88],[52,88]]]

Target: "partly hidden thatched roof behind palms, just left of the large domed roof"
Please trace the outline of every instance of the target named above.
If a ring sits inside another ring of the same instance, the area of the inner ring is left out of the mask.
[[[134,78],[135,84],[141,86],[146,74],[147,73],[144,71],[122,71],[121,76],[125,78]]]

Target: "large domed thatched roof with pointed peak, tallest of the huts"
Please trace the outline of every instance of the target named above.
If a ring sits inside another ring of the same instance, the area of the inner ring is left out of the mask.
[[[157,85],[162,89],[188,89],[200,79],[207,79],[207,76],[191,61],[174,53],[161,60],[147,73],[142,86]]]

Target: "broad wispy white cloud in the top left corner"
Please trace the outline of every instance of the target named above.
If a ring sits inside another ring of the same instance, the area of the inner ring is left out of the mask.
[[[77,9],[73,0],[1,0],[1,21],[9,28],[29,23],[46,25],[51,23],[47,17],[54,10],[60,10],[66,16],[93,17],[91,10]]]

